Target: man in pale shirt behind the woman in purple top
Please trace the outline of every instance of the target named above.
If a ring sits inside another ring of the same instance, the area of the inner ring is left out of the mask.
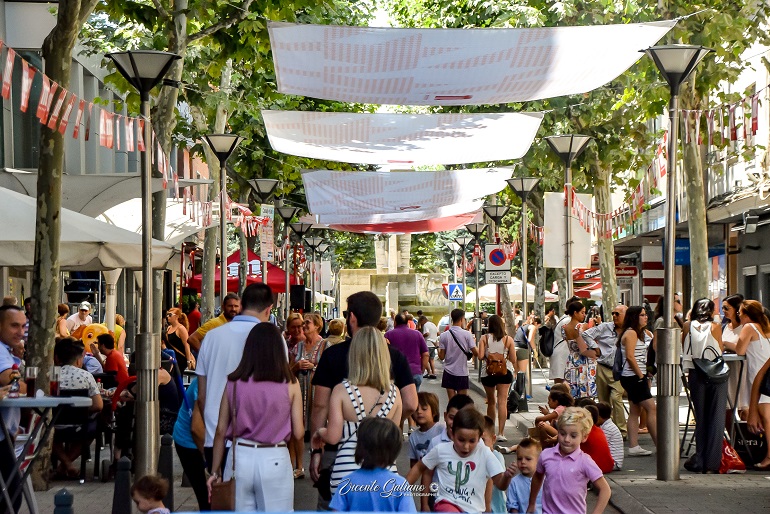
[[[243,346],[254,325],[269,322],[272,307],[273,292],[267,284],[249,285],[243,290],[240,314],[230,323],[207,332],[201,343],[195,374],[198,375],[198,405],[206,425],[203,449],[209,472],[227,375],[235,371],[241,362]],[[288,360],[288,353],[286,358]]]

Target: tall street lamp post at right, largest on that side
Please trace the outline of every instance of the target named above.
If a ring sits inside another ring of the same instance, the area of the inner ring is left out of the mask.
[[[668,177],[663,256],[663,327],[657,333],[658,366],[658,480],[679,479],[679,356],[680,330],[674,322],[674,252],[676,249],[676,149],[679,138],[679,86],[711,49],[703,46],[664,45],[645,50],[668,82]]]

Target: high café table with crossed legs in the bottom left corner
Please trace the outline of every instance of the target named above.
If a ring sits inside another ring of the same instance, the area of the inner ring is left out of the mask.
[[[30,513],[37,513],[37,508],[34,505],[34,502],[31,500],[32,491],[29,490],[27,476],[32,470],[32,464],[34,464],[35,459],[40,454],[40,449],[45,445],[45,442],[51,436],[51,431],[56,424],[56,418],[59,416],[59,407],[90,407],[91,403],[91,398],[77,396],[41,396],[37,398],[3,398],[0,400],[0,407],[32,409],[38,416],[40,416],[40,421],[36,423],[32,428],[27,441],[24,443],[21,455],[16,458],[15,469],[11,471],[11,475],[8,477],[8,481],[10,482],[13,477],[18,474],[21,477],[21,489],[18,491],[8,491],[8,485],[0,475],[0,487],[3,489],[3,497],[5,499],[6,505],[13,505],[13,501],[18,498],[19,494],[23,493],[24,498],[27,500]],[[5,426],[5,423],[0,423],[0,425],[3,426],[3,434],[5,435],[5,442],[0,442],[0,444],[7,444],[11,450],[11,453],[15,455],[16,449],[13,439],[11,439],[11,434],[8,433],[8,427]],[[31,456],[29,456],[29,465],[24,471],[22,471],[22,465],[27,458],[29,445],[35,441],[38,434],[40,435],[40,439],[37,446],[35,447],[35,451]]]

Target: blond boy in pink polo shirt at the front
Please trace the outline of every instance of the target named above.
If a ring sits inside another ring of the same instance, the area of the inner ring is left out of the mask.
[[[601,514],[610,501],[610,486],[602,470],[580,449],[593,426],[591,414],[582,407],[564,410],[557,422],[559,444],[543,450],[532,478],[527,512],[535,512],[535,501],[543,487],[544,514],[583,514],[586,512],[586,486],[589,481],[599,490],[594,514]]]

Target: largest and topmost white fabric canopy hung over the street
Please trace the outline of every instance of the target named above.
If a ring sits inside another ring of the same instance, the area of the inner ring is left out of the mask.
[[[278,91],[341,102],[480,105],[591,91],[675,21],[519,29],[270,22]]]

